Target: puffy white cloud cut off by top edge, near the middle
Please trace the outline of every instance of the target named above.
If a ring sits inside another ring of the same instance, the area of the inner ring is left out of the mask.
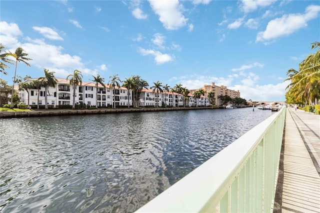
[[[149,0],[152,10],[166,29],[175,30],[187,22],[182,14],[183,6],[178,0]]]

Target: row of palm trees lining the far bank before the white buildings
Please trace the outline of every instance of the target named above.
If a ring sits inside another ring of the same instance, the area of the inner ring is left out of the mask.
[[[57,79],[54,76],[54,72],[53,71],[49,71],[48,69],[44,68],[44,76],[43,77],[39,77],[37,79],[34,79],[32,81],[28,81],[31,79],[30,76],[25,76],[24,78],[22,78],[19,75],[16,75],[16,69],[17,69],[17,64],[18,62],[23,62],[25,65],[30,66],[30,64],[27,62],[28,60],[32,60],[31,58],[28,58],[27,55],[28,53],[24,52],[24,50],[21,47],[16,48],[14,53],[11,52],[6,52],[3,51],[5,47],[0,43],[0,57],[1,57],[1,64],[0,64],[0,72],[2,72],[3,74],[7,74],[7,72],[5,71],[6,68],[8,68],[8,64],[14,64],[15,62],[15,69],[14,69],[14,76],[13,76],[13,85],[9,86],[7,85],[6,81],[1,80],[1,100],[0,100],[0,105],[3,105],[4,103],[8,102],[8,95],[11,94],[11,99],[10,99],[10,108],[13,107],[13,103],[18,101],[19,99],[16,98],[17,94],[14,95],[14,84],[18,83],[19,85],[19,90],[25,90],[27,92],[27,95],[29,97],[29,89],[37,89],[37,108],[39,108],[39,91],[41,87],[45,88],[45,92],[44,92],[44,101],[45,101],[45,109],[47,109],[47,95],[49,94],[49,87],[55,87],[57,84]],[[12,60],[9,57],[13,57],[15,59]],[[95,88],[96,88],[96,103],[97,103],[97,88],[99,85],[101,85],[102,87],[105,88],[105,84],[104,84],[104,77],[101,77],[99,74],[97,74],[96,76],[92,75],[93,79],[90,79],[90,81],[94,82],[95,84]],[[82,84],[82,73],[81,71],[75,69],[73,71],[73,74],[69,74],[66,77],[66,80],[69,80],[69,84],[72,85],[73,87],[73,104],[72,104],[72,109],[75,108],[75,88],[77,85],[81,85]],[[122,84],[121,84],[122,83]],[[120,86],[123,86],[125,88],[127,88],[128,90],[128,107],[129,107],[129,90],[132,90],[132,106],[133,107],[137,107],[138,106],[138,100],[140,98],[140,92],[142,91],[142,89],[146,88],[148,89],[149,84],[146,80],[142,79],[139,75],[132,75],[131,77],[125,78],[125,80],[120,80],[120,78],[118,77],[117,74],[114,74],[112,76],[109,76],[109,81],[107,82],[107,84],[109,85],[109,88],[112,89],[113,91],[113,100],[112,100],[112,107],[115,108],[115,88],[119,88]],[[153,85],[149,87],[150,89],[152,89],[153,93],[156,93],[156,98],[154,98],[154,105],[155,107],[160,106],[159,105],[159,92],[164,92],[165,96],[166,93],[179,93],[182,95],[183,97],[183,106],[185,107],[186,101],[189,100],[189,90],[186,87],[183,87],[182,84],[176,84],[173,87],[170,87],[169,85],[165,84],[162,85],[161,82],[159,82],[159,80],[157,80],[156,82],[153,82]],[[11,89],[11,93],[8,92],[8,89]],[[208,99],[209,99],[209,105],[213,106],[213,104],[215,103],[215,96],[214,93],[212,91],[208,92],[206,94],[206,92],[203,89],[198,89],[196,91],[193,92],[193,97],[197,99],[197,101],[199,100],[199,98],[203,95],[207,95]],[[232,102],[235,104],[246,104],[246,100],[243,98],[231,98],[228,95],[219,95],[218,98],[222,101],[223,104],[226,104],[228,102]],[[29,106],[29,98],[28,99],[28,103],[27,106]],[[156,101],[158,100],[158,101]],[[196,102],[196,105],[198,105],[198,102]],[[162,106],[162,104],[161,104]],[[97,104],[96,104],[96,108],[97,108]]]

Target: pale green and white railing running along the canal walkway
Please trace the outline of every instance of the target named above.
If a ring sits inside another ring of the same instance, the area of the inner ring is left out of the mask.
[[[271,212],[285,107],[136,212]]]

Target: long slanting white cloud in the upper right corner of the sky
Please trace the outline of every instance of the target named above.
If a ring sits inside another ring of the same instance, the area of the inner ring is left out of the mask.
[[[307,21],[318,16],[319,5],[309,5],[304,14],[285,14],[280,18],[270,20],[264,31],[258,32],[256,42],[272,41],[278,37],[289,35],[302,27],[307,26]]]

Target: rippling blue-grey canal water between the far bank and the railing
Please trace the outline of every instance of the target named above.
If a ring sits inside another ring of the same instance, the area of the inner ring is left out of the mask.
[[[271,113],[0,119],[0,212],[135,211]]]

